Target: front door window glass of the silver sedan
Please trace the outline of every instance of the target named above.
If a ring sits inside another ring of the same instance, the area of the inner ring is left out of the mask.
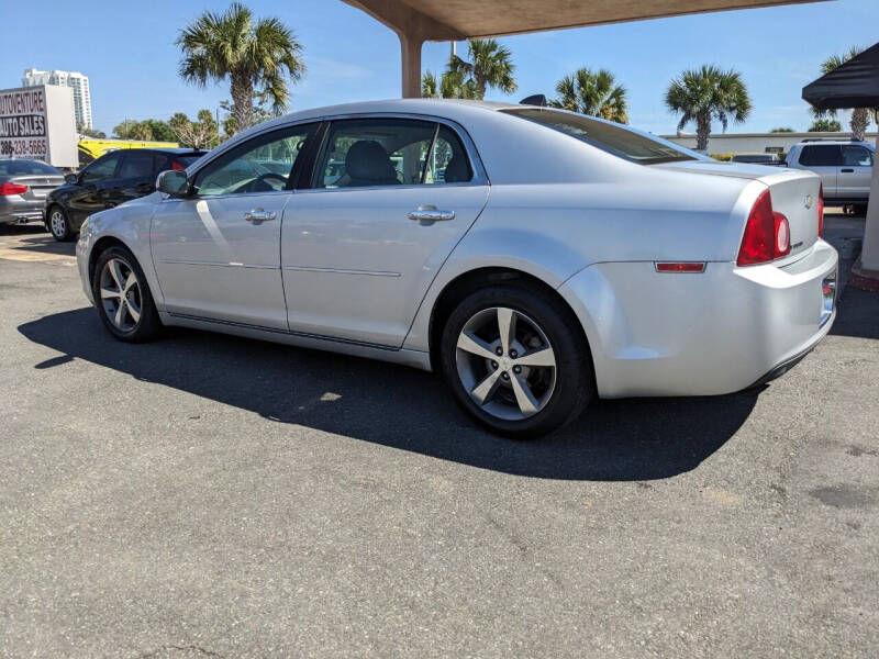
[[[196,175],[199,197],[289,190],[296,165],[316,124],[258,135],[223,154]]]

